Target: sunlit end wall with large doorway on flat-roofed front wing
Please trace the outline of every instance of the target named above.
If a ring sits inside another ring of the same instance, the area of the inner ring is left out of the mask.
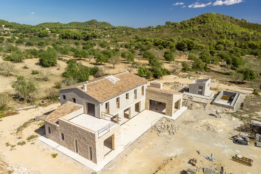
[[[99,163],[104,158],[104,140],[108,137],[114,135],[114,149],[117,149],[121,145],[121,130],[120,125],[115,125],[116,127],[110,130],[110,132],[106,133],[105,135],[98,138],[98,134],[96,134],[96,159],[97,163]]]

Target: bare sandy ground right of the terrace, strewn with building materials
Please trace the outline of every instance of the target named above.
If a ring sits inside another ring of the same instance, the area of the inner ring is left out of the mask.
[[[198,160],[198,167],[221,171],[221,167],[226,166],[227,172],[258,173],[261,149],[253,145],[237,145],[229,140],[238,134],[234,128],[241,122],[226,114],[215,118],[214,114],[213,110],[187,110],[176,121],[171,121],[181,125],[174,136],[159,137],[155,130],[148,130],[129,147],[132,150],[114,159],[101,173],[185,173],[188,168],[196,169],[188,164],[193,158]],[[211,154],[214,162],[204,157]],[[235,154],[253,159],[253,167],[232,161]]]

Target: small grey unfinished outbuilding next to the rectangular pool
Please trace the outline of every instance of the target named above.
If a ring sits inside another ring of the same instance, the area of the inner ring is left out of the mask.
[[[189,84],[188,92],[191,94],[198,94],[199,86],[203,86],[202,95],[206,95],[210,90],[211,79],[197,79]]]

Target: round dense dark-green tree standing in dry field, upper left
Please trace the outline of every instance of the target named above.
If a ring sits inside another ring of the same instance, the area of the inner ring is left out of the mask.
[[[57,64],[58,55],[55,51],[44,51],[39,55],[39,62],[43,67],[51,67]]]

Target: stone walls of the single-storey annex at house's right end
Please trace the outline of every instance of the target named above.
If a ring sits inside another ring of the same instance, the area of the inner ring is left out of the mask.
[[[171,94],[164,91],[155,91],[151,88],[146,89],[145,109],[149,110],[149,101],[155,100],[166,103],[165,115],[172,117],[174,114],[175,102],[180,100],[179,109],[182,107],[182,94]]]

